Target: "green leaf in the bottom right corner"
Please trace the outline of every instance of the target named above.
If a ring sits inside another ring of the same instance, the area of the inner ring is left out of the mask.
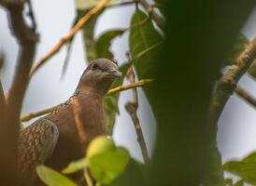
[[[223,165],[224,169],[244,181],[256,184],[256,153],[251,153],[241,161],[230,161]]]

